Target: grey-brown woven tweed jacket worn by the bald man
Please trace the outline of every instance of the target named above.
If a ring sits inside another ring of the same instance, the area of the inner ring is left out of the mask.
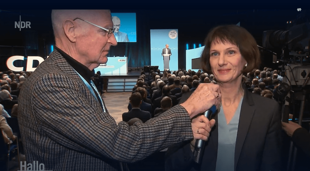
[[[18,120],[26,161],[53,171],[116,171],[193,138],[182,106],[148,122],[116,124],[57,50],[25,81]]]

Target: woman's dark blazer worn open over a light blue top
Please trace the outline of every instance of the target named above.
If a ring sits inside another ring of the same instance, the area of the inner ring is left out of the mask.
[[[235,147],[235,171],[281,170],[281,115],[277,101],[244,91]],[[190,143],[168,149],[166,171],[215,171],[218,149],[218,124],[205,143],[201,165],[193,162]]]

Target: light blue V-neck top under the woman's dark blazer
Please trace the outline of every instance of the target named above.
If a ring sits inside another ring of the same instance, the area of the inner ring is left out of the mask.
[[[235,147],[242,100],[243,97],[229,124],[227,124],[222,106],[218,113],[219,145],[217,150],[216,171],[234,171]]]

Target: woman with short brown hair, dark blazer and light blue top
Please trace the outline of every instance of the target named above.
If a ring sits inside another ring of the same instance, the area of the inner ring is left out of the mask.
[[[222,104],[214,117],[216,123],[205,143],[201,164],[193,160],[194,138],[169,148],[166,170],[280,170],[278,104],[248,92],[241,83],[242,73],[252,71],[260,63],[253,36],[236,25],[218,26],[206,37],[201,61],[203,70],[212,72],[222,93]],[[194,119],[194,137],[199,128]]]

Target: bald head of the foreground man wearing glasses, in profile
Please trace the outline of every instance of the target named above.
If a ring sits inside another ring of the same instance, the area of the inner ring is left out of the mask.
[[[108,61],[117,42],[109,10],[52,10],[56,47],[90,70]]]

